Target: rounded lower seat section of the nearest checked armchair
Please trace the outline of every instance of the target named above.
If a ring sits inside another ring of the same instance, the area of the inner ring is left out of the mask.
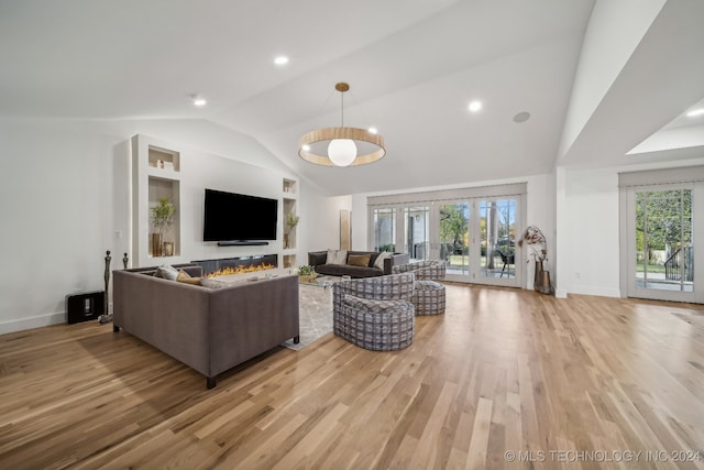
[[[414,342],[414,304],[346,295],[334,321],[334,334],[360,348],[395,351]]]

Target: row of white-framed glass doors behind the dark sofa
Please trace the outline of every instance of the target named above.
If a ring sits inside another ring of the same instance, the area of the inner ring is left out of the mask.
[[[525,184],[370,198],[369,243],[411,262],[441,260],[449,281],[520,287],[516,234]],[[427,199],[421,198],[426,196]]]

